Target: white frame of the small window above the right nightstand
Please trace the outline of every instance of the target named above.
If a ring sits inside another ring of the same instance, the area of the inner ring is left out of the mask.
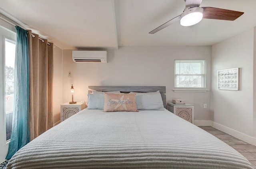
[[[196,61],[202,61],[202,67],[203,67],[203,73],[202,74],[188,74],[196,75],[196,76],[202,76],[202,85],[203,87],[177,87],[177,76],[179,75],[185,75],[185,74],[176,74],[176,61],[188,61],[188,62],[196,62]],[[184,91],[194,91],[194,92],[206,92],[206,59],[175,59],[174,60],[174,92],[184,92]]]

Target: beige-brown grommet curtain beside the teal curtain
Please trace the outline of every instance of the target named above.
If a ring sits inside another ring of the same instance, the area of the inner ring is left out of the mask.
[[[39,39],[38,35],[28,30],[30,103],[29,130],[33,140],[52,128],[52,83],[53,83],[53,43]]]

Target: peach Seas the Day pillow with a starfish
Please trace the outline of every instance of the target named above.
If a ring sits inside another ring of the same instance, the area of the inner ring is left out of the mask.
[[[138,112],[136,94],[104,93],[104,112]]]

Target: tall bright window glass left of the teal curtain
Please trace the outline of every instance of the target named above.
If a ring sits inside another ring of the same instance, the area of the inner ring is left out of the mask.
[[[12,114],[14,103],[14,65],[16,42],[5,38],[5,113],[6,141],[12,134]]]

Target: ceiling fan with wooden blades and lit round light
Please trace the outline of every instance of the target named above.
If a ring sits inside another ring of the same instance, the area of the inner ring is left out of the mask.
[[[179,20],[182,26],[192,26],[200,22],[202,18],[234,21],[242,14],[244,14],[244,12],[238,12],[233,10],[225,10],[213,7],[200,7],[202,0],[184,1],[186,2],[186,8],[181,15],[169,20],[168,22],[162,24],[161,26],[152,30],[149,33],[154,34]]]

